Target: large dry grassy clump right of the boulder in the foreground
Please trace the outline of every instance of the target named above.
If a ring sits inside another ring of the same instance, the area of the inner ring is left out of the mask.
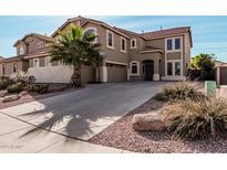
[[[199,140],[226,135],[227,103],[220,98],[178,100],[166,106],[163,116],[174,137]]]

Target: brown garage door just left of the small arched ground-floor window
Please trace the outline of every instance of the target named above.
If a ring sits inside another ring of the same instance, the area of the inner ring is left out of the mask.
[[[127,66],[120,64],[107,63],[107,82],[126,82],[127,81]]]

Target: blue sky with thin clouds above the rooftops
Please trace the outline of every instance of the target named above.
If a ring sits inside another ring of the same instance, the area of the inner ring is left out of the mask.
[[[0,55],[13,56],[13,43],[24,34],[37,32],[52,34],[63,22],[73,17],[0,17]],[[227,62],[227,17],[157,17],[157,15],[99,15],[89,17],[111,25],[141,33],[147,31],[192,26],[193,56],[198,53],[214,53],[218,60]]]

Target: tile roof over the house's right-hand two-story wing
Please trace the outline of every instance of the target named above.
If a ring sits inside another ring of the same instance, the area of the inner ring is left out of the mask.
[[[190,26],[182,26],[182,28],[173,28],[173,29],[146,32],[146,33],[142,33],[141,36],[146,40],[151,40],[151,39],[157,39],[163,36],[169,36],[173,34],[183,34],[187,32],[190,32]]]

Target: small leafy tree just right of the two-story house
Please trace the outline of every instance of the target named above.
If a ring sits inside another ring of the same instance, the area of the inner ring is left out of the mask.
[[[199,54],[193,57],[192,68],[200,71],[203,81],[215,79],[215,54]]]

